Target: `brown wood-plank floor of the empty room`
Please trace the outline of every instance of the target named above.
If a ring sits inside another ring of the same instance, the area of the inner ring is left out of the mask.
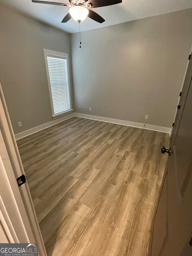
[[[148,255],[169,134],[74,117],[17,144],[48,255]]]

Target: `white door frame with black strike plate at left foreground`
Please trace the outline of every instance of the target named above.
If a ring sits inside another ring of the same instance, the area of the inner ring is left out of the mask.
[[[0,84],[0,221],[11,243],[38,243],[39,255],[46,256],[28,183],[19,187],[16,181],[23,174]]]

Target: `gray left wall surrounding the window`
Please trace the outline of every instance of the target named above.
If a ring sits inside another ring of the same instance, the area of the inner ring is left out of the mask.
[[[15,134],[52,121],[44,48],[70,60],[69,34],[0,7],[0,82]]]

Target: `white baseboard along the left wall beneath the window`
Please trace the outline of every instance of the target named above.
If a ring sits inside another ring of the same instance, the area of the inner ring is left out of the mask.
[[[36,126],[36,127],[31,128],[31,129],[29,129],[27,131],[23,131],[23,132],[17,133],[17,134],[15,134],[15,139],[19,140],[19,139],[21,139],[23,137],[29,136],[30,134],[33,134],[35,132],[44,130],[45,128],[48,128],[48,127],[50,127],[52,125],[56,125],[58,123],[61,123],[64,120],[72,118],[73,116],[75,116],[74,113],[66,115],[66,116],[62,116],[60,118],[52,120],[51,122],[45,123],[43,125]]]

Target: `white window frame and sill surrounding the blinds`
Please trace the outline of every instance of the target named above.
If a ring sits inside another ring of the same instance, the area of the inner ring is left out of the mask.
[[[63,111],[61,113],[55,114],[54,113],[54,108],[53,108],[53,99],[52,99],[52,92],[51,92],[51,83],[50,83],[50,77],[49,77],[49,68],[48,68],[48,62],[47,62],[47,56],[50,57],[65,57],[67,60],[67,78],[68,78],[68,90],[69,90],[69,100],[70,100],[70,109]],[[65,116],[67,114],[70,114],[73,112],[72,105],[71,105],[71,90],[70,90],[70,77],[69,77],[69,59],[68,59],[68,54],[67,53],[61,53],[61,52],[56,52],[52,50],[47,50],[44,49],[44,58],[45,58],[45,67],[46,67],[46,74],[47,74],[47,82],[48,82],[48,87],[49,87],[49,97],[50,97],[50,102],[51,102],[51,110],[52,110],[52,119],[59,118],[61,116]]]

